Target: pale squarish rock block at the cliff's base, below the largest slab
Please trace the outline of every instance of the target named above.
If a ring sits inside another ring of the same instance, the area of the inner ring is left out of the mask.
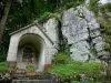
[[[89,44],[87,41],[81,41],[78,43],[74,43],[71,48],[71,58],[74,60],[85,61],[88,60],[89,52]]]

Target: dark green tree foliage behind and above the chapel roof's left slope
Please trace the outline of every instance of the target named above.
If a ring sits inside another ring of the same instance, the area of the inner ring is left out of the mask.
[[[0,44],[0,62],[7,60],[10,32],[32,23],[42,13],[53,12],[53,10],[54,4],[49,4],[44,0],[23,0],[21,4],[12,0],[4,35]]]

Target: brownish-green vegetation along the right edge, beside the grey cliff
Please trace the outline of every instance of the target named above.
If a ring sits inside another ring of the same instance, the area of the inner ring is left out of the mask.
[[[104,49],[108,52],[111,52],[111,3],[99,7],[98,20],[102,28],[102,37],[105,41]]]

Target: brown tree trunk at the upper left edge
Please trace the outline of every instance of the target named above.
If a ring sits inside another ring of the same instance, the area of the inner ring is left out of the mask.
[[[6,27],[6,23],[7,23],[7,18],[8,18],[8,13],[9,13],[9,10],[10,10],[10,6],[11,6],[11,0],[7,0],[6,4],[4,4],[3,17],[0,21],[0,44],[1,44],[2,35],[3,35],[4,27]]]

